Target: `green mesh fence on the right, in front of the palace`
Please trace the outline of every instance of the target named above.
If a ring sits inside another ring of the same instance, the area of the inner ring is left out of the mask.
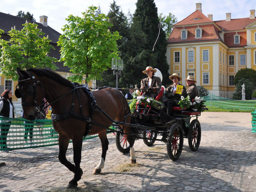
[[[214,94],[204,96],[205,105],[207,108],[212,106],[223,109],[237,109],[237,110],[255,110],[256,100],[232,100],[223,97],[218,97]]]

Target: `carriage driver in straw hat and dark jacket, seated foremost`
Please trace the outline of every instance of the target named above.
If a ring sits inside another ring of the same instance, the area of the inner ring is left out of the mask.
[[[142,71],[142,73],[148,76],[147,78],[142,79],[140,82],[140,89],[146,89],[142,90],[142,92],[144,92],[143,95],[156,98],[162,86],[160,77],[154,76],[156,69],[148,66],[146,70]]]

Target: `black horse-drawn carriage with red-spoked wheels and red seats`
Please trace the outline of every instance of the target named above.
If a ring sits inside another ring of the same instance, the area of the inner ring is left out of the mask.
[[[158,96],[163,94],[163,89]],[[158,98],[156,97],[156,100]],[[166,114],[161,108],[148,106],[138,108],[132,111],[131,118],[131,135],[133,142],[143,139],[147,146],[152,146],[155,141],[166,143],[167,154],[173,161],[179,159],[183,148],[184,138],[188,139],[189,148],[196,151],[201,141],[201,126],[198,117],[200,111],[191,111],[180,107],[173,107],[172,116]],[[141,105],[140,105],[141,107]],[[145,111],[146,110],[146,111]],[[195,117],[191,122],[191,118]],[[116,147],[121,153],[130,151],[129,143],[126,141],[126,135],[122,134],[122,129],[113,124],[116,128]]]

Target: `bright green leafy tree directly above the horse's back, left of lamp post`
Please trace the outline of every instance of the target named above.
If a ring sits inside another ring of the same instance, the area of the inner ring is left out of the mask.
[[[95,15],[97,7],[91,6],[83,17],[69,15],[68,24],[62,28],[58,45],[61,47],[60,61],[75,75],[72,81],[88,83],[100,79],[100,74],[111,66],[111,59],[118,57],[116,41],[119,33],[110,33],[112,26],[105,14]]]

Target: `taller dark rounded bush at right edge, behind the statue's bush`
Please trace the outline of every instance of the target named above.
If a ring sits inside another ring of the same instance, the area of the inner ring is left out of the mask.
[[[253,86],[256,87],[256,70],[251,68],[238,70],[234,78],[234,84],[236,85],[242,78],[249,79],[253,83]]]

